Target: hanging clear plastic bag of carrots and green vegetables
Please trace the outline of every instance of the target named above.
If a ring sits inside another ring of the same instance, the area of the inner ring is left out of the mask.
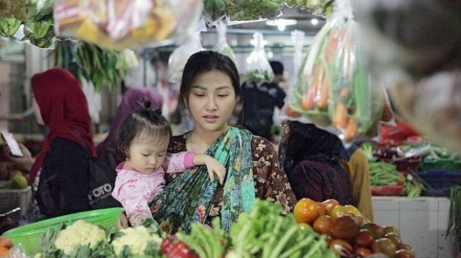
[[[350,141],[378,125],[383,96],[380,85],[361,66],[350,3],[337,1],[336,9],[313,40],[285,113],[333,126]]]

